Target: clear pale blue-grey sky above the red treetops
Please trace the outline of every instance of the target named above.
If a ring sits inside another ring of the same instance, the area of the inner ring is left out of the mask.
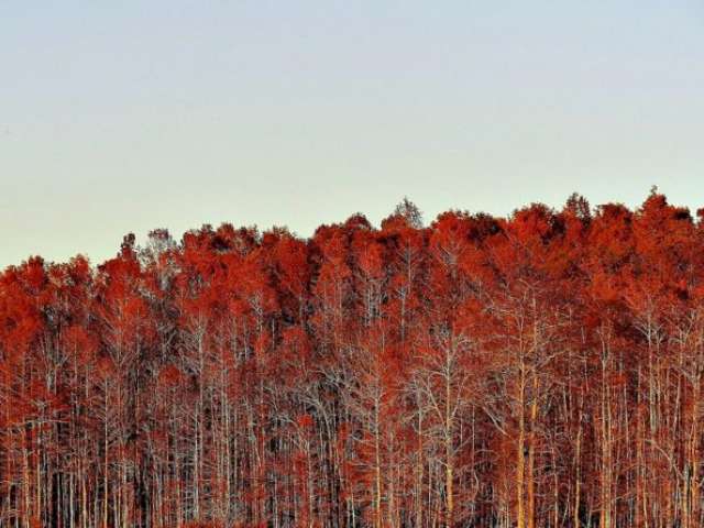
[[[704,206],[701,0],[0,0],[0,268],[652,185]]]

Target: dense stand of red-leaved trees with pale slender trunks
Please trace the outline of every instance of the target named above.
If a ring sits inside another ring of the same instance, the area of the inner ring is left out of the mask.
[[[404,202],[0,275],[2,527],[704,526],[704,220]]]

